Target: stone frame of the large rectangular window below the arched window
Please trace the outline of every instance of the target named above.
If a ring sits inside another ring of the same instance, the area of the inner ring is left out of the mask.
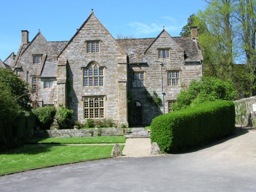
[[[97,102],[98,99],[98,102]],[[105,95],[82,96],[83,119],[105,118]],[[93,101],[90,103],[90,101]]]

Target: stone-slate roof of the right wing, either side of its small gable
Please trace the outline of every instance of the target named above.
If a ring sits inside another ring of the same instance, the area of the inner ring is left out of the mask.
[[[173,37],[175,41],[185,50],[186,62],[203,60],[198,40],[191,37]],[[123,50],[129,55],[130,63],[143,63],[144,52],[152,44],[155,38],[141,39],[116,39]]]

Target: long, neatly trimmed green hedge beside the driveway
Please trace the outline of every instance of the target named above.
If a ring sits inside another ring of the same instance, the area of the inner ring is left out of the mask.
[[[232,101],[206,101],[152,120],[151,141],[164,153],[176,153],[231,135],[235,111]]]

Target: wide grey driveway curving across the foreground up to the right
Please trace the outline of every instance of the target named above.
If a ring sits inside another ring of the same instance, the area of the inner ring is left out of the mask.
[[[256,191],[256,131],[185,154],[120,157],[4,176],[0,191]]]

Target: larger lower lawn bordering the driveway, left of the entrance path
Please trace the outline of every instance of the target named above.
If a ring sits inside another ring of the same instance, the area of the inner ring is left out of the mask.
[[[25,145],[0,152],[0,175],[22,170],[111,157],[114,145]],[[121,145],[122,150],[124,145]]]

